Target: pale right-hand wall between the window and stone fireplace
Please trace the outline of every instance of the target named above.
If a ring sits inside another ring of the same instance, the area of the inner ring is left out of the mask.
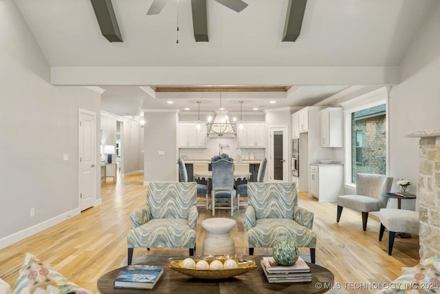
[[[401,63],[401,83],[390,92],[390,174],[410,180],[412,193],[419,180],[419,140],[405,138],[404,133],[440,129],[439,28],[440,1],[436,1]],[[402,201],[402,208],[414,205]]]

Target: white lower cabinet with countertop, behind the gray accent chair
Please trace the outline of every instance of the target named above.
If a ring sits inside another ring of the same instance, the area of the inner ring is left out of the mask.
[[[318,198],[320,202],[336,202],[342,195],[343,176],[343,165],[311,164],[309,196]]]

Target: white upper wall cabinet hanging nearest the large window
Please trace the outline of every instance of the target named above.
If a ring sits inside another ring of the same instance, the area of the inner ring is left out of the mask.
[[[341,107],[328,107],[320,111],[322,147],[342,147],[343,114]]]

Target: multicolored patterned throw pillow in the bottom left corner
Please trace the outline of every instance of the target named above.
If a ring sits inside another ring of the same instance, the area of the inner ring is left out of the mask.
[[[12,294],[93,294],[67,280],[31,253],[26,253]]]

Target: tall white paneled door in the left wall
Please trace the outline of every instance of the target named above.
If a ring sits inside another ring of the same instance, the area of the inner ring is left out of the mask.
[[[78,123],[79,207],[94,206],[96,199],[96,114],[79,109]]]

